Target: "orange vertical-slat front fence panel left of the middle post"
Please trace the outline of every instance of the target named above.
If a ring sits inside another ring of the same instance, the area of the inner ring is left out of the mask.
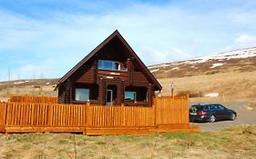
[[[6,114],[6,126],[86,126],[80,104],[7,103]]]

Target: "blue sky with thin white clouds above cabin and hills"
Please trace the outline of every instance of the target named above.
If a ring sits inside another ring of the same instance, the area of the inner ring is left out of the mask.
[[[1,0],[0,81],[61,77],[116,29],[146,65],[256,46],[256,1]]]

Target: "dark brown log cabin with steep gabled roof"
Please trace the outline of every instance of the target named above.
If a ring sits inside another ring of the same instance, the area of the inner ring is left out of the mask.
[[[60,104],[151,106],[162,86],[116,30],[57,84]]]

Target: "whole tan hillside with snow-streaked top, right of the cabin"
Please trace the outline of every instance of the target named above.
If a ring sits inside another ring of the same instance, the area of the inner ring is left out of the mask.
[[[148,66],[163,86],[161,95],[219,94],[222,100],[256,99],[256,47]]]

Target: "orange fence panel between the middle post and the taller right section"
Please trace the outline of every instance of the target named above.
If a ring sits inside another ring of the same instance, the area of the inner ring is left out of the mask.
[[[87,107],[87,126],[90,127],[135,127],[154,126],[153,107],[106,106]]]

